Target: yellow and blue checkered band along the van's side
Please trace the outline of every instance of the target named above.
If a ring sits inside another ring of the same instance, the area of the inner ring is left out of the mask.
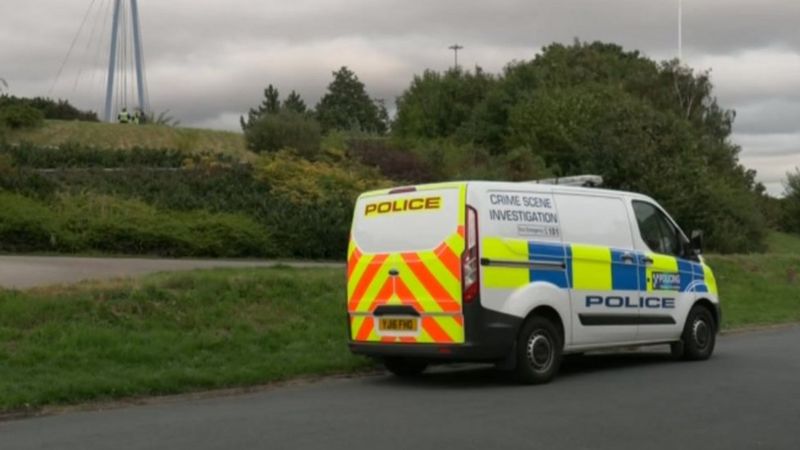
[[[529,267],[502,264],[485,267],[484,283],[490,288],[547,282],[565,289],[635,291],[641,283],[641,289],[647,291],[716,294],[716,282],[707,266],[672,256],[491,237],[485,238],[483,244],[482,256],[491,261],[530,263]],[[651,265],[645,263],[648,258]]]

